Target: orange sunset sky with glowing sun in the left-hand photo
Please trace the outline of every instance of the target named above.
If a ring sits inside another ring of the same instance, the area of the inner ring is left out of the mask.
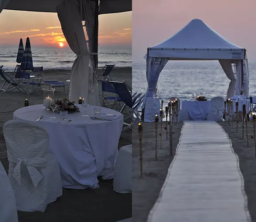
[[[29,37],[33,47],[68,47],[57,13],[4,10],[0,14],[0,46],[17,47]],[[99,16],[101,47],[132,45],[132,12]]]

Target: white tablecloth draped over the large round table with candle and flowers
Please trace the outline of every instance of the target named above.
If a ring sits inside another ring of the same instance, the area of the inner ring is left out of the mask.
[[[117,111],[101,108],[102,114],[120,115],[112,121],[93,120],[84,115],[84,107],[77,105],[80,112],[68,113],[67,121],[50,119],[52,111],[44,110],[43,105],[23,107],[13,114],[14,119],[35,122],[43,125],[50,135],[49,151],[56,155],[60,165],[62,186],[72,189],[98,187],[98,176],[113,178],[117,146],[123,126],[123,115]],[[94,106],[87,108],[86,115],[94,113]],[[60,123],[58,123],[60,122]]]

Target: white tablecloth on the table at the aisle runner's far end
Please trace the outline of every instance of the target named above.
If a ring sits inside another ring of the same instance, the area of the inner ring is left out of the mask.
[[[211,111],[211,101],[182,101],[181,110],[188,111],[190,120],[206,120]]]

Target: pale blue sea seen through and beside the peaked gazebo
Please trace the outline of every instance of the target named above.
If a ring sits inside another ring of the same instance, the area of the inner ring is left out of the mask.
[[[256,96],[256,63],[249,63],[249,95]],[[176,96],[190,100],[196,94],[207,96],[227,95],[230,80],[218,61],[168,61],[158,79],[160,99]],[[146,61],[132,63],[132,88],[135,92],[147,91]]]

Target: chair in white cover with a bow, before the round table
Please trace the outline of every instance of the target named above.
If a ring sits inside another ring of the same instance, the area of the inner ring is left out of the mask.
[[[59,163],[48,153],[47,130],[39,123],[10,120],[3,133],[17,210],[44,212],[62,195]]]

